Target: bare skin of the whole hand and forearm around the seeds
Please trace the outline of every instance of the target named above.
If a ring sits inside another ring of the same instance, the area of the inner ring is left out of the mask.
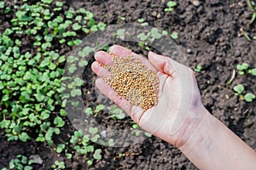
[[[152,52],[148,53],[148,59],[117,45],[112,46],[110,52],[119,57],[136,56],[159,77],[158,105],[147,111],[130,105],[101,78],[96,80],[96,87],[140,127],[177,146],[200,169],[255,169],[255,151],[202,105],[191,69]],[[100,51],[95,59],[92,71],[99,77],[108,77],[109,72],[100,63],[112,65],[111,56]]]

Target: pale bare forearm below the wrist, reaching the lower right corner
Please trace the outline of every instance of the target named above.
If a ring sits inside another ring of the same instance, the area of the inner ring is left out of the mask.
[[[183,154],[200,169],[255,169],[255,151],[205,108],[199,111],[201,118],[190,120],[189,127],[195,130],[187,129],[185,141],[178,146]]]

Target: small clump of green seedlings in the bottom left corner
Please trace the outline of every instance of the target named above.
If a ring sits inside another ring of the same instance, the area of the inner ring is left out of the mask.
[[[3,167],[1,170],[16,169],[16,170],[32,170],[32,159],[26,156],[17,155],[14,159],[9,161],[9,167]]]

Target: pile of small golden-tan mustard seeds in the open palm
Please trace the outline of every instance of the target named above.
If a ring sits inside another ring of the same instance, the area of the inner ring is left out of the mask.
[[[132,55],[119,57],[110,54],[113,65],[102,65],[110,71],[110,76],[103,80],[131,105],[144,110],[157,105],[159,79],[156,73]]]

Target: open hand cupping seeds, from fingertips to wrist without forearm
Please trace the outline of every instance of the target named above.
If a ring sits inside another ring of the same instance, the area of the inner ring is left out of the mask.
[[[183,141],[183,133],[190,127],[188,115],[201,108],[201,95],[197,88],[194,72],[185,65],[181,65],[171,58],[148,53],[148,59],[131,52],[127,48],[114,45],[109,48],[110,52],[125,57],[132,55],[142,61],[148,69],[156,72],[159,77],[159,101],[158,104],[148,109],[131,105],[125,98],[122,98],[102,78],[96,80],[96,87],[109,99],[119,105],[137,124],[160,139],[170,144],[179,145]],[[108,77],[109,71],[103,65],[112,65],[111,55],[99,51],[95,54],[96,61],[91,65],[92,71],[98,77]]]

